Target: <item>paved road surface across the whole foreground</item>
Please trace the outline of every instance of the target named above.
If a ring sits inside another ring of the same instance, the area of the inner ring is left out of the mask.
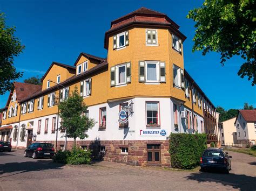
[[[50,159],[0,153],[2,190],[256,190],[256,158],[229,152],[230,174],[173,171],[112,162],[63,166]]]

